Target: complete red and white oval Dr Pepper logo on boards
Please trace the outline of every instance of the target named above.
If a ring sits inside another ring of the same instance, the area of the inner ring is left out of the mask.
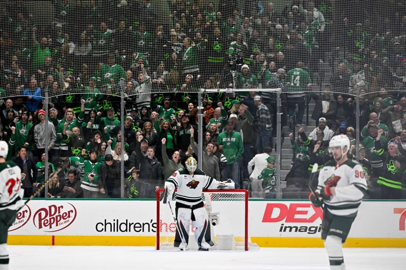
[[[76,208],[70,203],[52,204],[38,209],[32,222],[44,232],[58,232],[75,221],[76,213]]]

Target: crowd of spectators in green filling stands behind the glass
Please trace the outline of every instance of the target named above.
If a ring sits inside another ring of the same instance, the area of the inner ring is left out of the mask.
[[[49,20],[22,0],[0,4],[0,136],[22,169],[26,197],[46,166],[49,173],[64,166],[64,174],[40,196],[120,197],[124,163],[124,196],[152,198],[199,148],[208,175],[261,192],[259,169],[275,171],[266,159],[277,134],[276,94],[263,88],[283,92],[281,128],[293,147],[287,190],[307,186],[312,164],[329,159],[334,134],[347,134],[355,147],[359,132],[370,197],[402,197],[402,1],[159,3],[49,1]],[[203,130],[200,88],[242,89],[205,94]],[[316,128],[306,134],[309,101]]]

